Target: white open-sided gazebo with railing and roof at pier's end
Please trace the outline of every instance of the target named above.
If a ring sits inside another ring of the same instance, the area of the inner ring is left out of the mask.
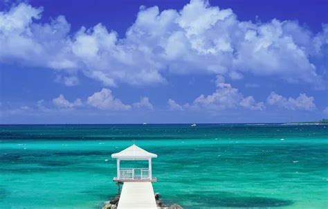
[[[156,157],[156,154],[147,152],[137,145],[132,145],[121,152],[111,154],[111,158],[117,160],[117,176],[113,178],[113,181],[156,181],[156,178],[152,177],[152,158]],[[120,168],[120,161],[148,161],[148,167]]]

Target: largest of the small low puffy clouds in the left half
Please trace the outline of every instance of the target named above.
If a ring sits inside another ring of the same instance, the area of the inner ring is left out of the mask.
[[[89,96],[87,103],[93,107],[104,110],[123,111],[131,109],[129,104],[123,104],[119,99],[114,98],[110,89],[102,89]]]

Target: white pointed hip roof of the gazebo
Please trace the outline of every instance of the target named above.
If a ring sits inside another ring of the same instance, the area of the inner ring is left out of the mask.
[[[123,149],[121,152],[111,154],[111,158],[119,159],[147,159],[147,158],[156,158],[156,154],[147,152],[145,149],[141,149],[137,145],[132,145]]]

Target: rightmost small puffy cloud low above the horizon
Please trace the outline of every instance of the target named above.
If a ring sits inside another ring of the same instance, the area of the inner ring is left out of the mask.
[[[284,109],[291,110],[307,110],[311,111],[316,109],[316,104],[313,103],[314,98],[307,96],[305,93],[300,93],[298,98],[284,98],[283,96],[271,92],[270,96],[266,99],[266,102],[271,105],[277,105]]]

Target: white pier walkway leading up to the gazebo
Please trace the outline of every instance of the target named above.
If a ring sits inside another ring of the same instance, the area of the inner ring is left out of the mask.
[[[131,181],[123,183],[118,209],[126,208],[154,208],[156,200],[151,182]]]

